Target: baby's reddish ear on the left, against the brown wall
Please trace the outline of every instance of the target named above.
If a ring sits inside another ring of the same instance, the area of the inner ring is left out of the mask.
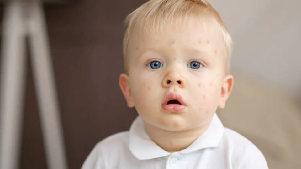
[[[129,76],[127,74],[120,74],[119,76],[119,86],[124,95],[124,98],[128,104],[128,107],[134,107],[134,101],[131,94],[131,89],[129,86]]]

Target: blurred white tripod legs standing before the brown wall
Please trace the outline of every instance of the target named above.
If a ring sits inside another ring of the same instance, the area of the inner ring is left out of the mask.
[[[49,169],[67,169],[42,2],[8,0],[2,30],[0,169],[18,169],[25,82],[25,37],[29,37],[46,161]]]

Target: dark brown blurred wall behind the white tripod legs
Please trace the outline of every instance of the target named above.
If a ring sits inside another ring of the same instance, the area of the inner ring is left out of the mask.
[[[136,116],[119,89],[123,19],[144,1],[78,0],[45,14],[70,169],[103,138],[128,130]],[[28,59],[20,168],[46,167]]]

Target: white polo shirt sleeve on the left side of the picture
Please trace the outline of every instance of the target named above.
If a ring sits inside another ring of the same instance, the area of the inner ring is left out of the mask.
[[[100,146],[98,144],[90,152],[81,169],[105,169]]]

